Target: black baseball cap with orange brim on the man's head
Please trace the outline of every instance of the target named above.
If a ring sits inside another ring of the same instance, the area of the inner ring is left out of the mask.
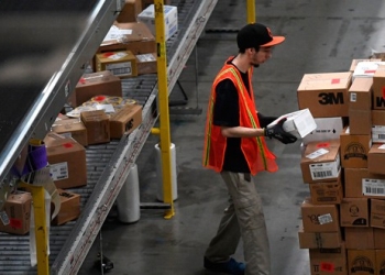
[[[284,36],[273,36],[271,30],[261,23],[251,23],[243,26],[237,35],[240,50],[250,47],[271,47],[285,41]]]

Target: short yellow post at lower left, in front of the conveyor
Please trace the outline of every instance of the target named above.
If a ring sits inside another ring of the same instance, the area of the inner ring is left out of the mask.
[[[37,274],[50,274],[48,262],[48,232],[45,220],[45,196],[43,186],[34,186],[25,183],[20,183],[19,187],[25,188],[32,195],[33,213],[35,220],[35,239],[36,239],[36,257],[37,257]]]

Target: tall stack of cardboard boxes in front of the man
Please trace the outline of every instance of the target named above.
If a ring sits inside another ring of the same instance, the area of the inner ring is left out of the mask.
[[[308,74],[299,109],[318,125],[302,140],[300,168],[310,197],[301,204],[299,246],[311,275],[382,274],[385,263],[385,69]],[[362,63],[362,64],[361,64]],[[371,66],[373,65],[371,64]]]

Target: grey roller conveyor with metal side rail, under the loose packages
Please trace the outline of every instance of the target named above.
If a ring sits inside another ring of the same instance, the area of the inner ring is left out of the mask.
[[[176,84],[216,3],[217,0],[172,2],[178,8],[179,30],[167,41],[168,92]],[[143,122],[120,141],[87,147],[87,186],[72,189],[81,195],[81,216],[76,222],[51,228],[51,274],[78,272],[157,120],[156,75],[124,79],[122,89],[124,97],[136,99],[143,106]],[[65,99],[62,107],[64,102]],[[0,233],[0,274],[36,274],[36,268],[30,266],[29,237]]]

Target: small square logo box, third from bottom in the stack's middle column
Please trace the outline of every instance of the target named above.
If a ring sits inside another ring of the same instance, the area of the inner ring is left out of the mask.
[[[369,199],[343,198],[340,205],[341,227],[369,227]]]

